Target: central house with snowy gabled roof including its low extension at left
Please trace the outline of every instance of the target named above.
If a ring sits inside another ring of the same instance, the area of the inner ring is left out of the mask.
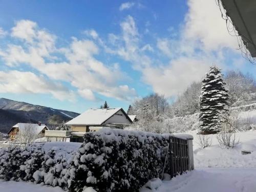
[[[133,120],[122,108],[90,109],[67,122],[71,131],[46,131],[47,141],[83,142],[83,135],[104,127],[123,129],[133,123]]]

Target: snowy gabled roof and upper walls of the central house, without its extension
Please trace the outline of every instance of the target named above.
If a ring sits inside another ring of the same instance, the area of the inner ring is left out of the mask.
[[[123,129],[124,126],[132,123],[133,121],[122,108],[110,108],[87,110],[66,124],[71,125],[73,132],[90,132],[102,127]]]

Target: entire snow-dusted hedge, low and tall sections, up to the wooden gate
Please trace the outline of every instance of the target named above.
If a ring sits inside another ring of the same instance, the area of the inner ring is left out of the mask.
[[[103,129],[83,143],[52,142],[0,151],[0,179],[69,191],[138,191],[161,176],[170,134]],[[169,164],[165,172],[169,172]]]

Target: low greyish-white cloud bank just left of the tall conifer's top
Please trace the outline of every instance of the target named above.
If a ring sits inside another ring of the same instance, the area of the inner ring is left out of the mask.
[[[143,80],[165,96],[182,93],[193,81],[200,80],[208,70],[207,59],[181,57],[167,66],[145,68]]]

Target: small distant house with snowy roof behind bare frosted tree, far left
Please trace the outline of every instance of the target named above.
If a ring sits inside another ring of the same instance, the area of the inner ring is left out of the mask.
[[[38,135],[38,137],[45,137],[45,131],[49,130],[48,127],[45,124],[41,124],[41,122],[38,123],[17,123],[12,126],[10,131],[8,132],[8,135],[10,136],[10,140],[14,140],[16,135],[20,130],[25,129],[34,129],[35,134]]]

